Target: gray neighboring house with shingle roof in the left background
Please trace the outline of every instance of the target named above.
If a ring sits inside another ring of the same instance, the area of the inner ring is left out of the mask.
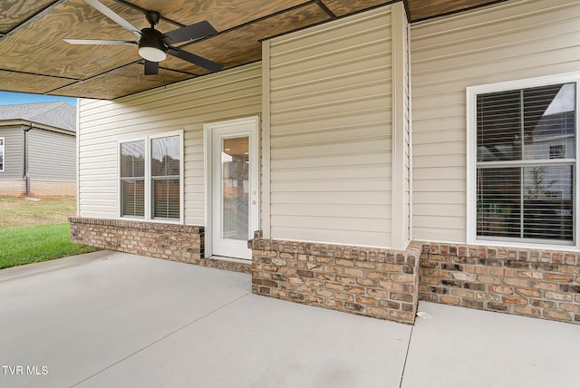
[[[72,105],[0,106],[0,195],[76,195],[76,109]]]

